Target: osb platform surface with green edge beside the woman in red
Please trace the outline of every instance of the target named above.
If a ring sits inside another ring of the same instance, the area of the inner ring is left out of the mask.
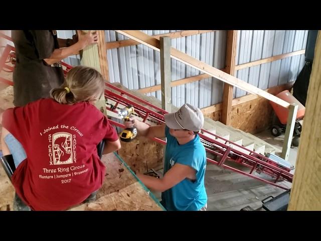
[[[94,202],[70,210],[163,210],[114,154],[103,155],[106,175]]]

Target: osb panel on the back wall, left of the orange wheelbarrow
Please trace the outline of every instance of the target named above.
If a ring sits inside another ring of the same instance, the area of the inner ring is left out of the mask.
[[[256,134],[271,126],[273,108],[262,97],[232,106],[231,126]]]

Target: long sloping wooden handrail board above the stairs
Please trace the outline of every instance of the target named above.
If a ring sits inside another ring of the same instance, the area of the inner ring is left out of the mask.
[[[146,45],[156,51],[159,51],[159,40],[148,36],[147,34],[144,34],[140,31],[136,30],[115,30],[117,33],[120,33],[128,38],[131,38],[143,45]],[[191,66],[197,70],[200,70],[203,73],[206,73],[212,77],[215,77],[217,79],[220,79],[224,81],[225,83],[231,84],[235,87],[238,87],[242,90],[245,90],[252,94],[258,94],[268,100],[271,100],[285,108],[287,108],[290,104],[272,94],[269,94],[268,92],[265,92],[262,89],[259,89],[241,79],[238,79],[232,75],[229,75],[227,73],[224,73],[223,71],[214,68],[213,66],[206,64],[200,60],[197,60],[181,51],[178,51],[177,49],[171,48],[171,57],[188,65]]]

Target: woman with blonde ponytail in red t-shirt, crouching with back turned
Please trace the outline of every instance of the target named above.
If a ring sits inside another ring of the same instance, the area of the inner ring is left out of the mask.
[[[93,105],[104,87],[98,71],[77,66],[52,98],[3,113],[3,158],[14,159],[17,198],[32,210],[66,210],[101,187],[105,166],[97,145],[105,140],[103,154],[120,148],[117,132]]]

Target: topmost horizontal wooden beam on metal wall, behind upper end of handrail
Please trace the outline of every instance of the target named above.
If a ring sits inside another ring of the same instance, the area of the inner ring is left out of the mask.
[[[152,37],[158,40],[159,40],[159,37],[170,37],[171,39],[175,39],[175,38],[187,37],[187,36],[196,35],[196,34],[210,33],[213,31],[215,30],[183,30],[183,31],[177,31],[174,33],[157,34],[157,35],[153,35]],[[114,48],[137,45],[137,44],[139,44],[139,42],[136,42],[132,39],[119,40],[119,41],[106,43],[106,49],[114,49]]]

